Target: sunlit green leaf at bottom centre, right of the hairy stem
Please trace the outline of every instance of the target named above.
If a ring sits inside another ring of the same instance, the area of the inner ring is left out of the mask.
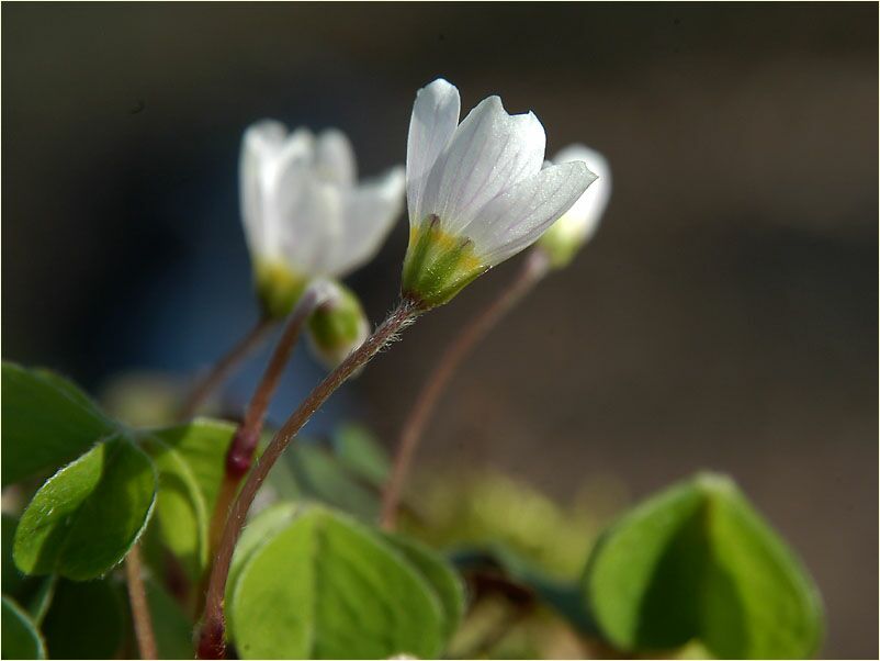
[[[443,616],[430,586],[377,534],[309,507],[258,548],[229,606],[244,659],[435,658]]]

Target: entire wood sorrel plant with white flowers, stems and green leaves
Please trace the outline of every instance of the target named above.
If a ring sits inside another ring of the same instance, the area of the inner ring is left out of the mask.
[[[454,547],[417,533],[431,520],[410,469],[444,389],[507,311],[576,259],[611,194],[609,165],[594,149],[571,145],[546,158],[533,113],[511,115],[489,97],[460,122],[460,105],[443,79],[420,89],[405,170],[374,179],[358,179],[339,131],[289,132],[274,121],[245,131],[241,214],[260,314],[194,383],[178,419],[133,427],[55,372],[3,363],[4,659],[819,651],[815,585],[725,475],[684,479],[597,529],[591,544],[578,526],[548,533],[574,519],[507,486],[484,505],[531,534],[501,535],[497,522],[481,531],[478,517],[462,522]],[[399,298],[372,329],[341,279],[376,254],[404,198]],[[519,253],[509,284],[432,351],[391,456],[358,425],[329,439],[301,436],[407,326]],[[195,417],[279,326],[238,422]],[[329,372],[267,430],[303,334]],[[566,536],[590,549],[578,551],[575,571],[533,552]]]

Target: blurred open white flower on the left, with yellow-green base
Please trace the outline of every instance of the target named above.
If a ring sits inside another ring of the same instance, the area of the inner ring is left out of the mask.
[[[357,181],[354,153],[336,130],[287,133],[271,120],[245,132],[241,212],[267,313],[283,316],[308,281],[369,261],[403,206],[404,170]]]

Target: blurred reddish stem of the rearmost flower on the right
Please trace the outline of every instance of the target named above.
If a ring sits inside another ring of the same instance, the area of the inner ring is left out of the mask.
[[[516,279],[487,307],[467,323],[447,347],[433,371],[416,397],[397,444],[391,475],[382,494],[380,523],[393,530],[397,523],[397,508],[413,457],[425,427],[433,414],[440,396],[462,360],[492,328],[514,307],[550,270],[550,260],[541,248],[532,248]]]

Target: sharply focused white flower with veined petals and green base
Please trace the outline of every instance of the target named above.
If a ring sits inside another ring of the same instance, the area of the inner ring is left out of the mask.
[[[533,113],[509,115],[498,97],[459,124],[459,91],[419,90],[409,124],[409,248],[403,291],[422,307],[449,301],[534,243],[596,176],[583,161],[542,169],[545,136]]]

